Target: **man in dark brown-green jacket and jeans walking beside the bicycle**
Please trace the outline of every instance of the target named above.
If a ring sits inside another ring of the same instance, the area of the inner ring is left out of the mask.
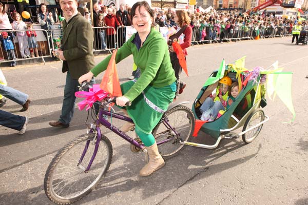
[[[53,54],[63,60],[62,72],[67,74],[61,116],[49,125],[67,128],[74,113],[78,78],[94,67],[93,30],[87,19],[78,12],[77,0],[60,0],[60,6],[65,16],[63,43]],[[94,83],[94,78],[91,83]]]

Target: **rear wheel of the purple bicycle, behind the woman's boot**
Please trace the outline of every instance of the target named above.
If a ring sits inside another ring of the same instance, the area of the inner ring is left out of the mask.
[[[175,133],[168,129],[163,120],[160,120],[158,125],[153,129],[153,136],[156,139],[157,144],[161,141],[174,138],[158,145],[158,150],[164,159],[167,159],[171,155],[179,152],[184,144],[180,144],[182,141],[187,141],[189,136],[191,136],[193,129],[195,128],[195,117],[192,111],[186,106],[176,106],[171,110],[167,111],[163,118],[168,120],[168,123],[174,128],[180,136],[175,135]]]

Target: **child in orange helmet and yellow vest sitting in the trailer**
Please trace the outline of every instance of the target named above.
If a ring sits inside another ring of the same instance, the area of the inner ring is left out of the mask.
[[[220,85],[216,89],[216,94],[207,97],[200,107],[201,120],[214,121],[220,110],[225,110],[227,106],[228,90],[232,84],[232,79],[225,76],[219,80]]]

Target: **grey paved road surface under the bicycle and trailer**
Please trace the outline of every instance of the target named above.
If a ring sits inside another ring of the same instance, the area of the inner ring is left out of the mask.
[[[113,145],[112,165],[97,190],[75,204],[308,204],[308,47],[292,45],[291,38],[284,37],[194,46],[188,53],[189,77],[182,74],[187,87],[180,99],[190,102],[222,58],[232,63],[246,55],[250,69],[268,68],[279,60],[285,71],[294,72],[295,122],[283,124],[291,113],[278,98],[268,100],[264,112],[271,119],[252,144],[244,145],[239,138],[222,140],[215,150],[184,147],[146,178],[138,176],[144,156],[106,131]],[[130,76],[131,63],[129,57],[118,64],[122,82]],[[22,136],[0,127],[0,204],[52,204],[43,189],[45,171],[59,148],[85,133],[86,112],[76,109],[67,129],[48,125],[61,113],[65,75],[59,62],[3,71],[8,85],[28,93],[32,103],[24,113],[12,101],[2,108],[27,115],[30,121]],[[214,143],[204,133],[195,140]]]

